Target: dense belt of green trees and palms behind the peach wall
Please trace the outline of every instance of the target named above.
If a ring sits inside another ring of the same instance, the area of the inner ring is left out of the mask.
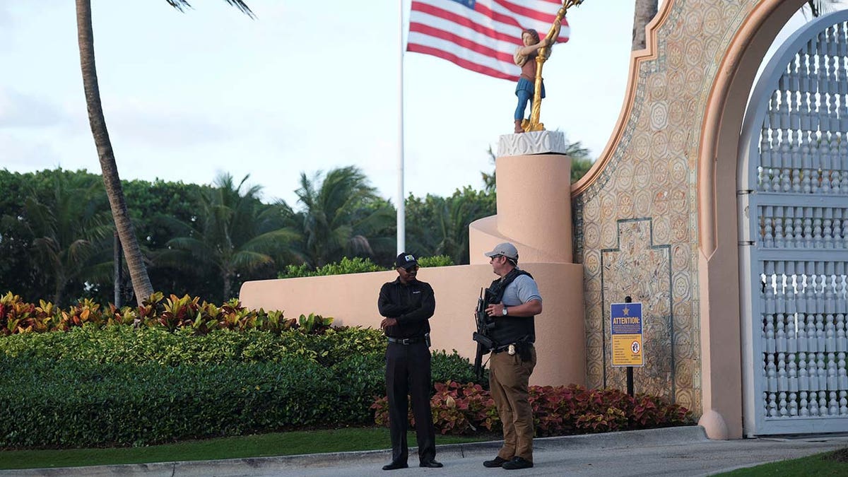
[[[301,179],[296,208],[263,202],[248,177],[222,174],[212,185],[123,182],[156,289],[226,301],[245,280],[393,267],[395,210],[359,169]],[[112,301],[114,225],[101,177],[0,170],[0,187],[8,191],[0,195],[0,292],[57,306]],[[422,266],[459,265],[468,263],[468,224],[493,215],[495,197],[472,188],[444,198],[410,195],[406,210],[407,244],[429,261]],[[122,303],[137,301],[130,279],[121,279]]]

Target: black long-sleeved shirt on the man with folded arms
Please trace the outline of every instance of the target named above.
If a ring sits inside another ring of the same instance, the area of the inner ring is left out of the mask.
[[[430,333],[427,320],[436,311],[436,297],[429,283],[415,280],[400,283],[400,278],[383,283],[377,308],[383,317],[395,318],[398,324],[386,327],[386,336],[392,338],[421,338]]]

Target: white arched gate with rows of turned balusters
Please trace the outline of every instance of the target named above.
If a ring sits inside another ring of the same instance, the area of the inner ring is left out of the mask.
[[[763,70],[739,146],[745,435],[848,431],[848,11]]]

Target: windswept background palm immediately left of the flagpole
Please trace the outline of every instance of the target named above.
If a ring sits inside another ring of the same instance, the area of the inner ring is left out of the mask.
[[[394,210],[357,167],[333,169],[323,179],[320,172],[311,179],[301,173],[295,194],[303,210],[293,225],[302,235],[307,265],[323,267],[344,256],[373,257],[375,250],[393,244],[382,233],[394,221]]]

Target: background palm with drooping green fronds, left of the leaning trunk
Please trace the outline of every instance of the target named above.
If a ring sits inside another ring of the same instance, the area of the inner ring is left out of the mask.
[[[53,283],[52,300],[59,305],[70,283],[85,281],[103,268],[92,258],[105,248],[103,239],[111,236],[112,227],[97,182],[66,175],[61,169],[52,175],[52,194],[40,198],[32,189],[24,201],[24,215],[3,220],[20,220],[33,237],[35,267]]]

